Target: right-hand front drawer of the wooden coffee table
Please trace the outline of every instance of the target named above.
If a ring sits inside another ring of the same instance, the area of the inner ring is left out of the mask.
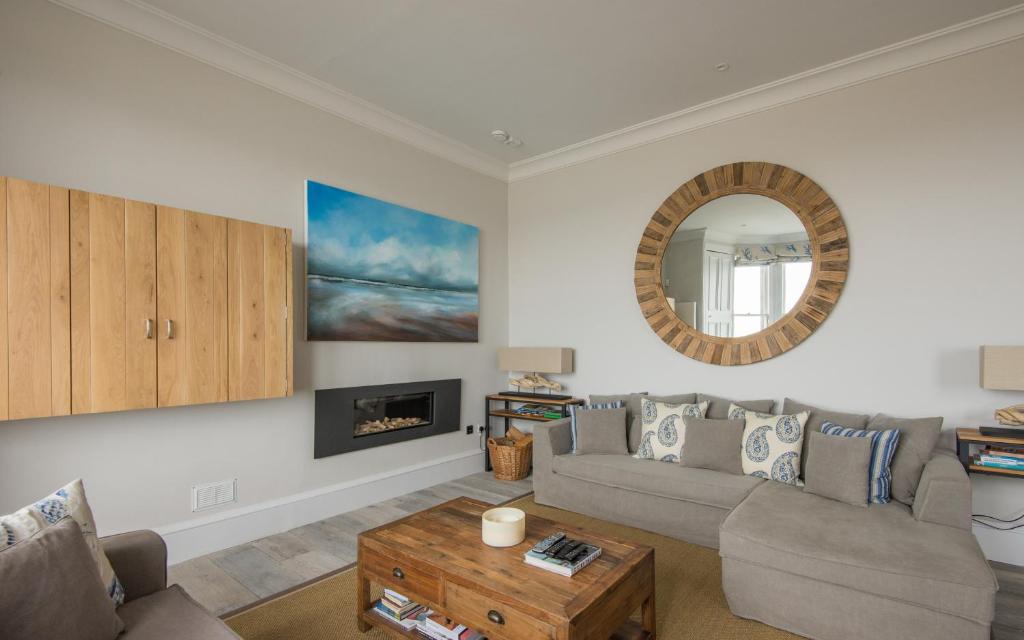
[[[455,622],[472,627],[493,640],[555,637],[551,625],[456,583],[444,585],[444,610]]]

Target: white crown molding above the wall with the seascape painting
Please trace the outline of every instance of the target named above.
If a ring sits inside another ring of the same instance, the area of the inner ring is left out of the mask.
[[[508,180],[508,164],[140,0],[50,0],[377,133],[486,176]]]

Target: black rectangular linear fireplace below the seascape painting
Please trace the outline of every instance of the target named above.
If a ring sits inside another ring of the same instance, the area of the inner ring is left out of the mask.
[[[316,390],[313,457],[459,430],[462,380]]]

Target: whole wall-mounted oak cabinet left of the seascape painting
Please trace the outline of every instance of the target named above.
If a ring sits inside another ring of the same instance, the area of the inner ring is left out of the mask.
[[[291,395],[292,234],[0,177],[0,420]]]

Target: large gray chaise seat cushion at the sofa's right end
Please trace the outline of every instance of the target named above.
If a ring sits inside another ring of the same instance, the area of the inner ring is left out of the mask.
[[[992,620],[995,577],[974,535],[918,521],[896,502],[864,509],[767,482],[725,519],[719,544],[722,557]]]

